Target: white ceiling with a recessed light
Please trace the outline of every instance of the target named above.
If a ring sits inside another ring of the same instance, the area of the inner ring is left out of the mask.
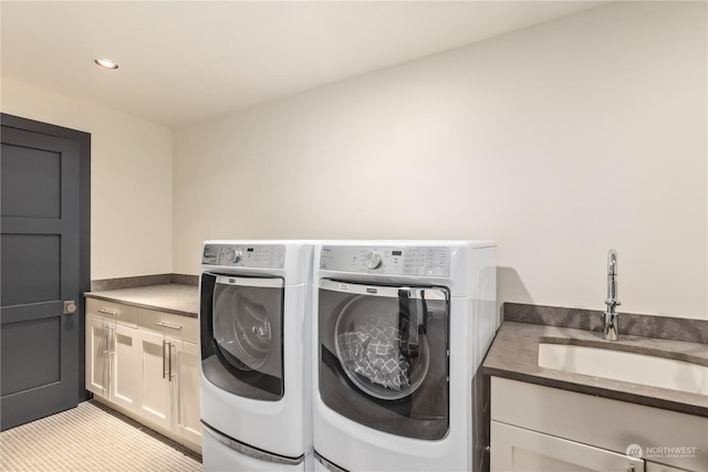
[[[601,3],[2,0],[1,71],[180,126]]]

